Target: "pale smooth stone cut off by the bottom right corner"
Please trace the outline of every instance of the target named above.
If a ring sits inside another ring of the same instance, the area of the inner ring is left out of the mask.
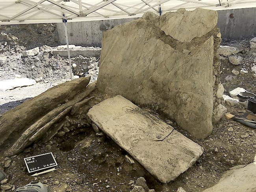
[[[216,185],[203,192],[255,192],[256,162],[227,171]]]

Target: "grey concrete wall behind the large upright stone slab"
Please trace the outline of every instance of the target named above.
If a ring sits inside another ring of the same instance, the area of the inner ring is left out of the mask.
[[[233,18],[230,18],[233,14]],[[136,18],[70,22],[67,24],[69,44],[81,46],[101,46],[102,32],[116,25]],[[218,24],[222,38],[225,40],[243,39],[256,33],[256,8],[230,9],[218,11]],[[59,41],[66,44],[64,26],[57,24]]]

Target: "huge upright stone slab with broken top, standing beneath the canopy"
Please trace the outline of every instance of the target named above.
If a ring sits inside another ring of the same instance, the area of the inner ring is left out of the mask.
[[[206,9],[143,18],[104,32],[97,88],[167,114],[191,135],[212,131],[219,104],[217,12]]]

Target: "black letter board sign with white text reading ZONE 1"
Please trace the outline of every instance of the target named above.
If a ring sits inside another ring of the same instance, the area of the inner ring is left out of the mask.
[[[48,169],[50,167],[58,165],[52,153],[45,153],[33,157],[26,157],[24,158],[24,161],[29,173]]]

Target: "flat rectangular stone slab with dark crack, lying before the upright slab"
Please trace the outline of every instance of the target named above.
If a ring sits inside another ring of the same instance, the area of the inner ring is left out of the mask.
[[[203,153],[201,146],[120,95],[94,105],[88,116],[162,183],[185,172]]]

